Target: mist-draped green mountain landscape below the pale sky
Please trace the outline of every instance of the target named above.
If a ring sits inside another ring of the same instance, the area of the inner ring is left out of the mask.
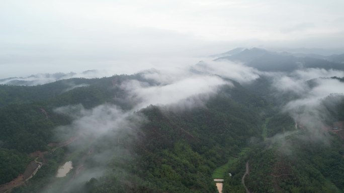
[[[13,192],[215,192],[212,172],[227,164],[223,192],[244,192],[241,178],[252,192],[342,192],[342,61],[257,48],[215,56],[132,75],[1,80],[0,148],[27,157],[2,182],[39,159]],[[321,162],[319,149],[335,158]]]

